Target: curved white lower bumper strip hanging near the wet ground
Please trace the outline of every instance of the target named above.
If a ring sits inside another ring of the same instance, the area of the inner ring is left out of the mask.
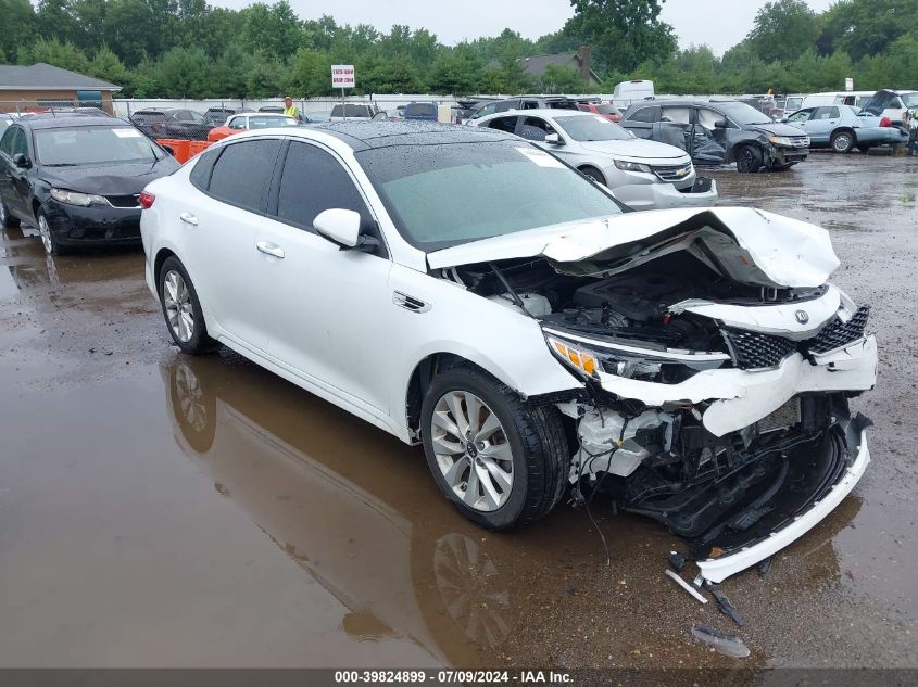
[[[707,581],[717,584],[755,565],[802,537],[832,512],[851,493],[867,469],[867,463],[870,462],[865,424],[865,421],[858,417],[852,420],[845,431],[850,465],[840,480],[821,494],[817,494],[815,500],[812,500],[806,509],[789,520],[784,526],[771,531],[768,536],[735,550],[726,551],[716,558],[700,561],[697,565],[701,569],[702,580],[696,582]]]

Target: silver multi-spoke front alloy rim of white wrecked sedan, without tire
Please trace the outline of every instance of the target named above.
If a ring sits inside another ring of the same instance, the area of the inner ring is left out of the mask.
[[[430,438],[447,486],[469,508],[489,512],[513,489],[513,449],[498,416],[475,394],[451,391],[430,419]]]

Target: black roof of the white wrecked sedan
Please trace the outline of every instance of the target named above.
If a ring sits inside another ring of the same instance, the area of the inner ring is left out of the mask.
[[[262,129],[263,133],[268,129]],[[335,122],[309,128],[280,129],[285,137],[312,139],[313,133],[334,136],[355,152],[391,145],[436,145],[444,143],[482,143],[518,141],[512,133],[471,126],[435,122]],[[235,137],[234,137],[235,138]]]

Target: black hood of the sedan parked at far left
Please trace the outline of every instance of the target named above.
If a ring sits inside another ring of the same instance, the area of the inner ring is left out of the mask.
[[[164,157],[156,163],[41,167],[39,176],[51,186],[68,191],[134,195],[154,179],[168,176],[179,167],[174,157]]]

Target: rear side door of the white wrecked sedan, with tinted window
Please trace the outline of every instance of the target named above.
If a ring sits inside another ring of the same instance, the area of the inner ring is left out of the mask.
[[[183,226],[180,257],[208,317],[234,340],[260,352],[267,346],[263,314],[272,290],[260,281],[255,236],[280,145],[276,138],[250,139],[202,154],[191,173],[192,185],[200,185],[202,193],[176,201]],[[208,164],[213,169],[198,179],[196,173]]]

